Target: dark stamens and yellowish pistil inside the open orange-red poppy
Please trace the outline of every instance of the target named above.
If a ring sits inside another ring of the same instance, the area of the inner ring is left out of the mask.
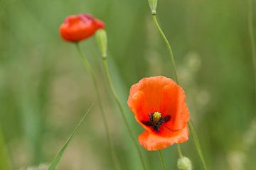
[[[160,125],[171,120],[171,116],[167,115],[165,117],[161,116],[161,113],[154,112],[149,114],[149,121],[142,121],[143,125],[151,126],[156,132],[159,132]]]

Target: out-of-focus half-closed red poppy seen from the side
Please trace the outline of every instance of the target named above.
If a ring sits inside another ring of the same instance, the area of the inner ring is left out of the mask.
[[[102,21],[84,13],[68,16],[60,26],[60,35],[64,40],[78,42],[94,35],[96,30],[104,28],[105,24]]]

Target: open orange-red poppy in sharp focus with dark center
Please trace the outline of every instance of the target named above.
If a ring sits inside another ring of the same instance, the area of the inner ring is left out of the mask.
[[[157,76],[140,80],[131,87],[127,103],[145,129],[139,144],[147,150],[188,140],[186,96],[172,79]]]

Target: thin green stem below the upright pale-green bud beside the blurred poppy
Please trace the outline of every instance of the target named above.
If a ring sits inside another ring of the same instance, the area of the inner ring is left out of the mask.
[[[108,69],[108,66],[107,66],[107,56],[102,56],[102,61],[103,61],[103,66],[104,66],[104,71],[105,71],[105,75],[107,77],[107,83],[109,85],[109,88],[110,88],[110,91],[112,93],[112,96],[114,97],[114,101],[117,102],[117,105],[119,107],[119,110],[121,112],[121,115],[122,115],[122,118],[124,120],[124,125],[126,126],[128,132],[129,132],[129,137],[131,137],[132,139],[132,142],[134,143],[134,145],[136,146],[136,149],[137,149],[137,152],[139,154],[139,159],[142,163],[142,166],[143,166],[143,169],[146,170],[146,165],[144,163],[144,159],[142,157],[142,152],[140,151],[139,149],[139,146],[137,145],[137,140],[136,138],[134,137],[134,135],[132,134],[132,129],[129,127],[129,123],[128,123],[128,120],[124,114],[124,109],[122,108],[122,103],[121,101],[119,100],[118,96],[117,96],[117,93],[116,91],[114,91],[114,86],[112,84],[112,80],[111,80],[111,77],[110,77],[110,71]]]

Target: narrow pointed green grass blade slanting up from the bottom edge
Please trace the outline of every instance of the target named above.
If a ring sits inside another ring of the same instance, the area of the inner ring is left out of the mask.
[[[90,106],[90,108],[88,108],[87,112],[85,113],[85,115],[82,117],[82,119],[80,120],[80,123],[78,123],[77,127],[75,128],[75,130],[72,132],[72,134],[70,135],[70,137],[68,137],[68,140],[65,142],[65,145],[63,145],[63,147],[60,149],[60,152],[58,152],[57,156],[55,157],[55,159],[53,159],[53,162],[50,164],[48,170],[54,170],[55,167],[57,166],[58,162],[60,162],[61,157],[63,156],[63,152],[65,152],[65,149],[68,147],[70,141],[72,140],[72,138],[75,136],[75,133],[77,132],[79,126],[82,124],[83,120],[85,120],[86,116],[88,115],[88,113],[90,113],[90,109],[92,108],[93,104]]]

